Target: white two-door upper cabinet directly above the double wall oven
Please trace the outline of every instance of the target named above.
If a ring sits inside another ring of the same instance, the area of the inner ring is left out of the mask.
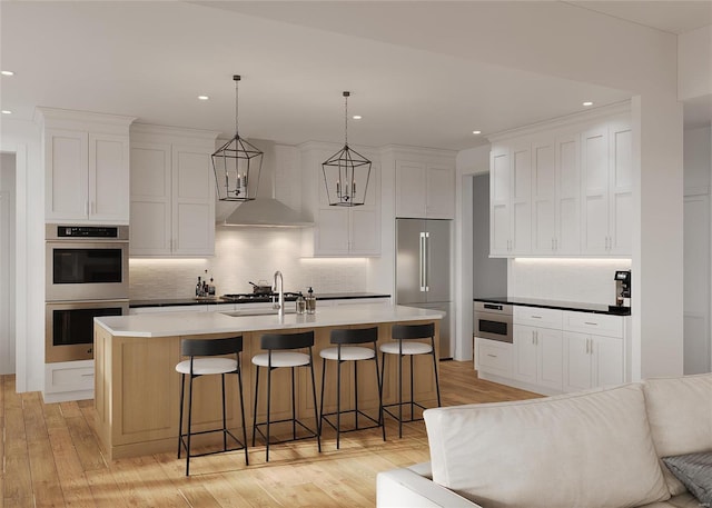
[[[48,222],[129,222],[134,117],[38,108]]]

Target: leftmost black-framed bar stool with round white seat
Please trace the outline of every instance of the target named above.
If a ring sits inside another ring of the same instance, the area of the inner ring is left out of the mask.
[[[245,449],[245,464],[249,465],[247,454],[247,427],[245,425],[245,404],[243,401],[243,373],[240,371],[240,352],[243,351],[243,337],[231,337],[228,339],[182,339],[180,341],[180,355],[190,357],[176,365],[176,370],[180,372],[180,424],[178,426],[178,458],[180,458],[181,448],[186,449],[186,476],[190,472],[190,457],[201,457],[212,454],[221,454],[224,451],[234,451]],[[197,357],[216,357],[222,355],[235,355],[235,358],[197,358]],[[192,380],[200,376],[220,375],[222,386],[222,428],[202,430],[200,432],[191,431],[192,419]],[[243,440],[240,441],[233,432],[227,429],[227,419],[225,416],[225,375],[236,373],[238,391],[240,394],[240,416],[243,418]],[[186,392],[186,376],[189,377],[188,388],[188,430],[182,430],[184,400]],[[208,451],[205,454],[190,454],[190,437],[200,434],[222,432],[222,449],[217,451]],[[228,449],[227,437],[237,442],[237,447]]]

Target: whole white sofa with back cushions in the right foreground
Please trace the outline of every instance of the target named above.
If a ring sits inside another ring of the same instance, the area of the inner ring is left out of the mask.
[[[712,451],[712,373],[425,411],[431,462],[378,507],[700,508],[662,457]]]

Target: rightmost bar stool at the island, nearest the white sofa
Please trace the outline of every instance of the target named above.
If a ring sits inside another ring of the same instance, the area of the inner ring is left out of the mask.
[[[423,419],[415,418],[415,407],[426,409],[414,400],[413,392],[413,357],[415,355],[431,355],[433,357],[433,371],[435,372],[435,389],[437,391],[437,407],[441,407],[441,385],[437,379],[437,359],[435,358],[435,325],[429,322],[427,325],[394,325],[390,331],[392,337],[395,339],[393,342],[386,342],[380,345],[382,352],[382,366],[380,366],[380,386],[385,382],[386,370],[386,355],[398,355],[398,401],[395,404],[388,404],[383,407],[383,410],[398,420],[398,438],[403,437],[403,422],[419,421]],[[426,342],[411,342],[414,339],[431,339],[431,343]],[[403,400],[403,357],[408,356],[411,358],[411,400]],[[411,418],[403,419],[403,406],[411,406]],[[392,407],[398,407],[398,415],[390,412]]]

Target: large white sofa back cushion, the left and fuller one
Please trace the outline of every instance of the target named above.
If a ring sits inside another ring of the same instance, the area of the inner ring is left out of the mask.
[[[640,385],[424,414],[433,480],[486,508],[670,498]]]

